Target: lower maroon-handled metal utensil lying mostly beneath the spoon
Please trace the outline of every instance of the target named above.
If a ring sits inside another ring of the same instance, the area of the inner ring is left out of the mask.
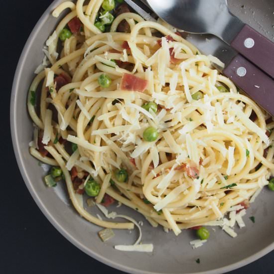
[[[140,4],[144,3],[147,5],[146,0],[141,0],[141,2],[139,0],[125,1],[146,20],[155,20],[155,18],[144,10],[144,7],[147,10],[147,6]],[[184,2],[184,0],[181,1]],[[196,0],[193,1],[196,2]],[[142,5],[143,8],[140,5]],[[168,5],[168,3],[166,3],[166,5]],[[192,20],[195,21],[196,18]],[[258,69],[258,67],[242,55],[238,54],[228,43],[223,42],[214,35],[188,33],[186,40],[194,44],[203,54],[211,54],[220,59],[225,64],[225,67],[222,68],[217,64],[213,64],[214,67],[230,78],[248,96],[274,116],[274,80],[271,77]]]

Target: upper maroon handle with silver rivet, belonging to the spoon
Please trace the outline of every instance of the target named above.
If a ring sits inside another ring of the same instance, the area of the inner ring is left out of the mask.
[[[274,78],[274,43],[249,25],[234,38],[231,46]]]

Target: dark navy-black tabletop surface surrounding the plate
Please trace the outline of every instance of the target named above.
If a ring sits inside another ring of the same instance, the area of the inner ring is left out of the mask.
[[[0,180],[0,273],[122,274],[90,258],[55,230],[28,193],[13,154],[9,130],[12,79],[27,37],[51,2],[0,0],[1,174],[4,174]],[[274,273],[273,261],[274,252],[230,274]]]

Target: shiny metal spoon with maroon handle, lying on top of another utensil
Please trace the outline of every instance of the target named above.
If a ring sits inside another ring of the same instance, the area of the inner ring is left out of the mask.
[[[192,33],[211,33],[274,77],[274,43],[231,14],[226,0],[147,0],[169,24]]]

